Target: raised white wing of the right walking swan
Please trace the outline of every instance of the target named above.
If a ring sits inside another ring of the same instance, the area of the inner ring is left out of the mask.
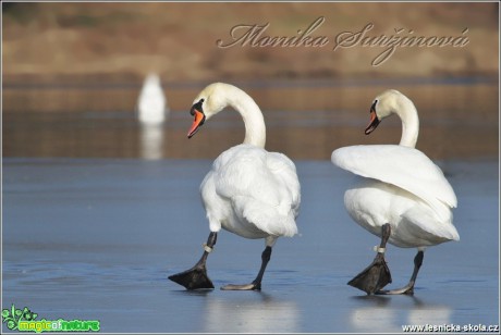
[[[332,163],[367,178],[414,194],[437,212],[454,208],[457,199],[442,171],[421,151],[402,146],[352,146],[337,149]]]

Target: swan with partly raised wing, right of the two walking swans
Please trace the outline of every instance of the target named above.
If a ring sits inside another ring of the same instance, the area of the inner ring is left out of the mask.
[[[372,133],[381,120],[392,114],[402,121],[400,145],[352,146],[334,150],[334,165],[359,176],[344,194],[344,207],[362,227],[381,237],[374,262],[349,282],[367,294],[413,294],[426,247],[460,240],[452,223],[457,199],[442,171],[425,153],[415,149],[419,119],[414,103],[398,90],[376,97],[370,107]],[[382,290],[391,283],[384,261],[386,244],[417,248],[414,271],[407,285]]]

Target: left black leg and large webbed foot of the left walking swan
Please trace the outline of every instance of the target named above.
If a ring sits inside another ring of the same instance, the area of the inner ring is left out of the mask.
[[[190,270],[173,274],[169,276],[169,280],[175,282],[186,289],[209,289],[213,288],[213,284],[207,275],[206,261],[209,252],[212,251],[218,233],[211,232],[207,238],[207,244],[204,245],[204,253],[200,260]]]

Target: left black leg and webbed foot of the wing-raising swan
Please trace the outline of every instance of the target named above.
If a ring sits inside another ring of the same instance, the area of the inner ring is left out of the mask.
[[[390,269],[388,269],[387,262],[384,261],[384,251],[387,241],[390,238],[390,224],[383,224],[381,227],[381,244],[379,245],[376,258],[369,266],[351,280],[347,283],[349,285],[371,295],[391,283]]]

